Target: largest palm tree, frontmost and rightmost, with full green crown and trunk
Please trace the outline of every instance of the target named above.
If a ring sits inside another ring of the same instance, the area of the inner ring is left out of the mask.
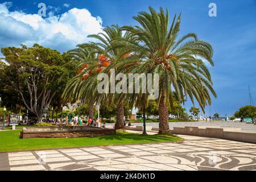
[[[205,65],[208,62],[213,66],[213,51],[210,44],[197,39],[196,34],[177,39],[181,15],[177,18],[175,15],[169,26],[168,10],[165,13],[160,8],[158,13],[152,7],[149,9],[150,13],[141,12],[134,17],[139,26],[122,27],[122,30],[130,32],[135,41],[119,44],[138,57],[133,71],[159,74],[159,134],[169,134],[168,101],[173,103],[173,91],[179,101],[184,102],[189,97],[195,104],[196,100],[203,111],[206,105],[211,104],[210,93],[217,97]],[[136,59],[124,60],[122,64],[131,61]]]

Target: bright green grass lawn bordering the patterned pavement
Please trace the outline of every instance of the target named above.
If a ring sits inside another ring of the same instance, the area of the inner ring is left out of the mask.
[[[166,135],[141,135],[134,133],[117,133],[90,138],[30,138],[20,139],[20,131],[0,131],[0,152],[36,150],[46,148],[65,148],[83,146],[107,146],[114,144],[138,144],[152,142],[175,142],[179,137]]]

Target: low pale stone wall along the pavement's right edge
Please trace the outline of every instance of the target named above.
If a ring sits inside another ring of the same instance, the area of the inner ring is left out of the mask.
[[[244,132],[241,129],[232,128],[200,128],[195,126],[186,127],[174,127],[172,131],[173,134],[180,135],[192,135],[199,137],[211,137],[211,138],[221,138],[228,140],[236,140],[239,142],[256,143],[256,133]]]

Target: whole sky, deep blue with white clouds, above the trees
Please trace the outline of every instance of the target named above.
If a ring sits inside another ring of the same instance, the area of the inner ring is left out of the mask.
[[[40,2],[47,6],[43,19],[36,16]],[[217,5],[217,17],[208,15],[211,2]],[[171,17],[181,12],[180,36],[195,32],[212,44],[215,66],[210,71],[218,98],[207,107],[207,115],[210,110],[229,115],[249,105],[248,85],[256,104],[256,0],[0,1],[0,47],[38,42],[67,51],[88,42],[86,35],[102,27],[137,24],[132,17],[148,6],[167,7]]]

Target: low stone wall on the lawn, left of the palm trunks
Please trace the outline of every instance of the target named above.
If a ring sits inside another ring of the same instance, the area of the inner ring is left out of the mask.
[[[20,138],[80,138],[115,135],[114,129],[99,127],[24,127]]]

